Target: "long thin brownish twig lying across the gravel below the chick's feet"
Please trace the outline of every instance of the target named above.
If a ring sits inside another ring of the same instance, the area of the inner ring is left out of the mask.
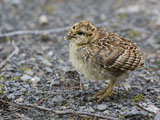
[[[42,111],[48,111],[48,112],[52,112],[54,114],[57,115],[64,115],[64,114],[71,114],[74,116],[86,116],[86,117],[94,117],[94,118],[98,118],[98,119],[105,119],[105,120],[117,120],[116,118],[113,117],[107,117],[107,116],[102,116],[102,115],[97,115],[97,114],[93,114],[93,113],[85,113],[85,112],[78,112],[78,111],[61,111],[61,110],[53,110],[50,108],[46,108],[46,107],[42,107],[42,106],[37,106],[34,104],[26,104],[26,103],[10,103],[10,102],[6,102],[4,100],[0,100],[5,104],[8,104],[10,106],[14,106],[14,107],[19,107],[19,108],[34,108],[34,109],[38,109],[38,110],[42,110]]]

